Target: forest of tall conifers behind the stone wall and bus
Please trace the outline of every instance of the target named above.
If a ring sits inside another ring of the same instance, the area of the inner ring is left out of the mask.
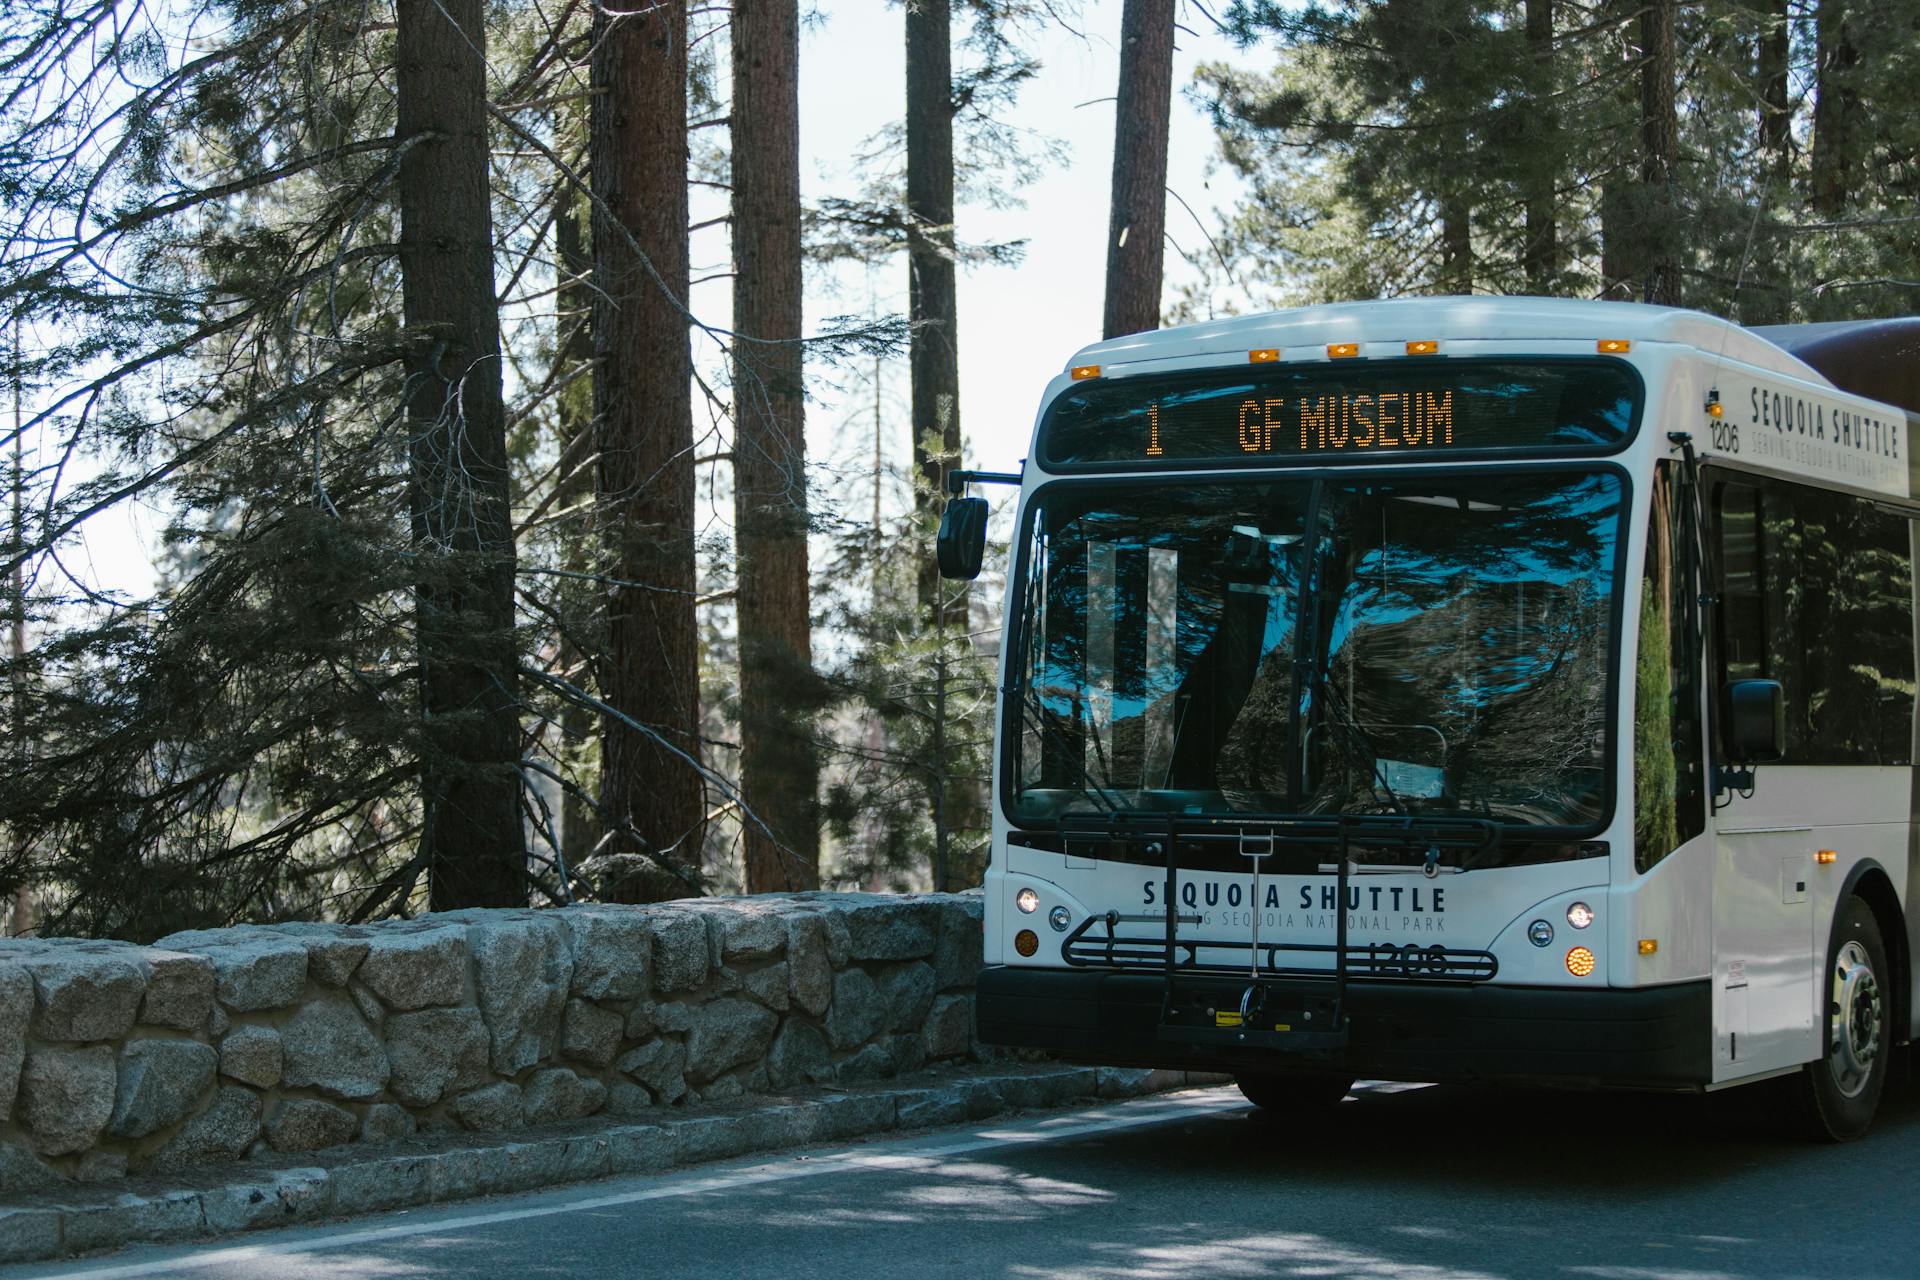
[[[1916,61],[1920,0],[12,4],[12,927],[977,883],[931,526],[1073,347],[1908,313]]]

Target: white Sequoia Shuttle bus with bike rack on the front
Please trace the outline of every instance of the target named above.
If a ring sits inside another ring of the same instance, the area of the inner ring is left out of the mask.
[[[1020,484],[979,1036],[1263,1107],[1780,1077],[1864,1132],[1916,1031],[1916,388],[1920,322],[1524,297],[1083,349],[954,484]]]

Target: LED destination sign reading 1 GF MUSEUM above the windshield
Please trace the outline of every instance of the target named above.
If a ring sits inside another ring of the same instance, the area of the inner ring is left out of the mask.
[[[1210,368],[1077,384],[1041,424],[1041,457],[1071,468],[1596,453],[1626,443],[1638,405],[1640,378],[1617,361]]]

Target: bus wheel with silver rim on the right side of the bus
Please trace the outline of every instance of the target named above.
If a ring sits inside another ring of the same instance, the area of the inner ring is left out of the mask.
[[[1799,1115],[1809,1136],[1853,1142],[1874,1123],[1887,1088],[1891,981],[1887,950],[1874,912],[1860,898],[1847,898],[1826,952],[1826,1057],[1807,1063],[1793,1079]]]

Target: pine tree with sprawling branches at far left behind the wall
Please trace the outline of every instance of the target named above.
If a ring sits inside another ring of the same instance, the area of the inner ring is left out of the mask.
[[[115,13],[0,17],[0,307],[33,336],[13,439],[92,470],[29,472],[6,557],[40,643],[8,658],[36,752],[0,766],[0,869],[35,850],[44,925],[119,936],[564,900],[522,844],[543,766],[507,510],[549,393],[503,403],[526,326],[495,319],[555,178],[490,152],[482,77],[516,104],[566,36],[255,4],[182,48]],[[90,79],[61,69],[75,42]],[[77,251],[33,248],[75,226]],[[148,597],[35,576],[134,499],[163,518]]]

